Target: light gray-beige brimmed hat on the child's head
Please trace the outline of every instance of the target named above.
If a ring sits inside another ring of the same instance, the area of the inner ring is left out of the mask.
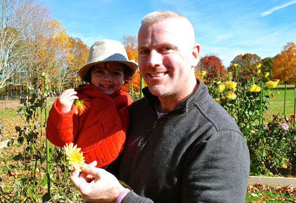
[[[122,43],[115,40],[100,40],[90,47],[87,64],[82,66],[77,74],[84,80],[88,70],[92,66],[110,61],[126,64],[131,69],[131,76],[135,75],[138,71],[138,64],[128,60]]]

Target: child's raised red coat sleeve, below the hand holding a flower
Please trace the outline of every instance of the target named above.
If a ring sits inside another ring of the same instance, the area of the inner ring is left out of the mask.
[[[63,113],[57,108],[57,99],[49,111],[46,123],[46,138],[54,145],[63,147],[74,142],[77,135],[78,119],[74,116],[74,106],[71,111]]]

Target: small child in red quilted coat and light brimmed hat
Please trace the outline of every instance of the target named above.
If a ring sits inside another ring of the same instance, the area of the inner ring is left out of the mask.
[[[114,161],[124,145],[127,106],[132,102],[121,86],[137,70],[138,65],[128,61],[119,41],[94,43],[87,64],[78,71],[78,76],[90,84],[66,89],[55,100],[47,120],[47,139],[59,147],[77,144],[85,162],[97,161],[97,167]]]

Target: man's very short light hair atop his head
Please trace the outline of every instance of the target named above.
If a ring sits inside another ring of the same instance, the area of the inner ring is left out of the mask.
[[[185,16],[170,10],[159,10],[148,13],[142,20],[141,25],[154,24],[165,21],[167,19],[186,19]]]

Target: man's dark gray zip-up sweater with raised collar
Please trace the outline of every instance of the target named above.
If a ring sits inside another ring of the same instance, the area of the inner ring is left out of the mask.
[[[250,158],[238,126],[197,79],[198,89],[159,118],[148,88],[129,108],[119,176],[123,203],[244,203]]]

